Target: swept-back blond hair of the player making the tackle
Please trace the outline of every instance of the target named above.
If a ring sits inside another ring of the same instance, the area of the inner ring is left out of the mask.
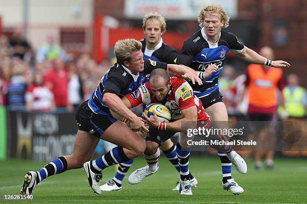
[[[142,43],[136,39],[127,38],[117,40],[114,46],[114,54],[118,63],[131,60],[131,54],[142,49]]]

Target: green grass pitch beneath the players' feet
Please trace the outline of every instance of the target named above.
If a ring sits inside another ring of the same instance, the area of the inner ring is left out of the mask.
[[[34,190],[33,200],[5,200],[6,194],[18,194],[23,177],[29,170],[38,170],[46,163],[30,160],[0,161],[0,203],[307,203],[307,160],[305,158],[277,158],[272,170],[254,170],[253,160],[247,159],[247,174],[239,174],[232,167],[235,180],[244,187],[244,193],[233,195],[223,190],[218,156],[190,158],[190,169],[199,184],[192,196],[173,191],[179,174],[162,155],[160,169],[141,183],[130,185],[128,175],[145,165],[142,157],[135,159],[123,181],[121,191],[98,195],[88,187],[81,169],[66,171],[48,177]],[[105,181],[114,175],[114,167],[103,171]]]

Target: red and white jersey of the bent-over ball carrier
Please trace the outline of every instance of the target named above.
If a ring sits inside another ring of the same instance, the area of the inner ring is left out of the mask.
[[[175,76],[171,76],[170,81],[172,86],[167,98],[164,101],[157,100],[155,95],[152,93],[148,82],[125,96],[130,101],[132,107],[141,103],[148,105],[155,102],[165,102],[164,105],[171,111],[172,120],[182,118],[181,110],[196,105],[198,113],[197,120],[208,120],[209,115],[205,112],[202,101],[193,94],[190,84],[186,80]]]

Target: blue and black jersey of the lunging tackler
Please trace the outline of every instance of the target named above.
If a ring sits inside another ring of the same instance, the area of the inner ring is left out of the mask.
[[[137,75],[119,63],[115,63],[102,76],[97,88],[89,98],[88,106],[94,113],[111,115],[109,108],[102,101],[103,94],[110,92],[122,98],[127,93],[136,90],[144,81],[145,74],[156,68],[167,69],[167,63],[144,59],[144,70]]]

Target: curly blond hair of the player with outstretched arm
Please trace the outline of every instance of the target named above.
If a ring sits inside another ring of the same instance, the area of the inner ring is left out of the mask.
[[[198,22],[199,22],[199,26],[203,27],[204,26],[204,18],[205,16],[209,13],[212,14],[214,12],[220,13],[221,15],[221,21],[224,23],[224,25],[222,26],[222,28],[228,27],[229,25],[229,16],[227,15],[226,11],[224,10],[224,8],[220,5],[207,5],[204,6],[198,13]]]

